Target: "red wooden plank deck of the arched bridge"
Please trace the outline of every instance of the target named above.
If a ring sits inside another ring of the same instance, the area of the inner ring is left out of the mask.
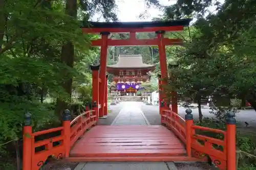
[[[164,126],[95,126],[79,139],[70,161],[184,161],[181,141]]]

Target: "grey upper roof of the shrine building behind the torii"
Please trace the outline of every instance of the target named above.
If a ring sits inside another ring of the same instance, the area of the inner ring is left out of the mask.
[[[154,69],[154,64],[144,64],[141,55],[119,55],[118,62],[113,65],[106,66],[108,69]]]

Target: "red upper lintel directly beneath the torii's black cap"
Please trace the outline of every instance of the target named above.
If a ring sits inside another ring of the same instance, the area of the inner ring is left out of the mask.
[[[145,28],[82,28],[83,33],[130,33],[130,32],[156,32],[163,31],[182,31],[183,26],[171,26],[171,27],[145,27]]]

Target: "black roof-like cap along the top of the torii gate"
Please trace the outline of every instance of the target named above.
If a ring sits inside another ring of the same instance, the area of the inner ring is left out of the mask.
[[[145,21],[145,22],[83,22],[82,28],[150,28],[150,27],[172,27],[189,25],[191,18],[167,21]]]

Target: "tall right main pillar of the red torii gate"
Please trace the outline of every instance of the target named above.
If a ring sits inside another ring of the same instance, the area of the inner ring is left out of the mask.
[[[159,49],[159,61],[160,61],[160,70],[161,70],[161,85],[167,85],[167,79],[168,79],[168,74],[167,74],[167,62],[166,62],[166,52],[165,52],[165,44],[163,42],[164,40],[164,33],[165,31],[157,31],[157,38],[158,38],[158,49]],[[166,101],[164,101],[165,95],[163,93],[163,88],[162,93],[160,94],[159,103],[161,108],[168,109],[168,106],[166,105]],[[163,102],[163,103],[162,103]]]

